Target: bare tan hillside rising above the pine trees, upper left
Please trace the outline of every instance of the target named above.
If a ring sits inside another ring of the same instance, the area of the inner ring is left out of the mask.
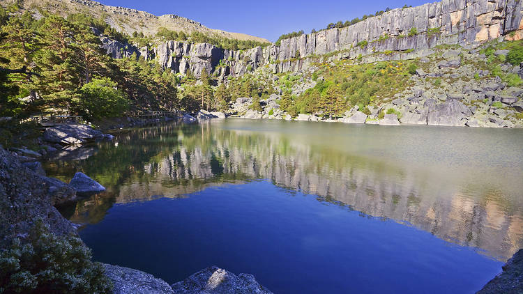
[[[189,20],[179,15],[156,16],[131,8],[107,6],[91,0],[24,0],[22,1],[22,6],[24,9],[35,11],[38,8],[43,8],[43,10],[64,17],[71,13],[85,13],[96,18],[103,17],[105,22],[114,29],[129,35],[135,31],[137,33],[142,32],[145,35],[154,35],[160,27],[165,27],[172,31],[183,31],[184,33],[197,31],[222,38],[268,42],[268,40],[264,38],[258,38],[244,33],[231,33],[218,29],[209,29],[199,22]]]

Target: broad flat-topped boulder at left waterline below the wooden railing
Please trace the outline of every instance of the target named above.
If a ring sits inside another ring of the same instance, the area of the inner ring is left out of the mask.
[[[93,130],[89,125],[58,125],[48,127],[43,137],[45,141],[51,143],[70,145],[104,139],[104,134],[98,130]]]

